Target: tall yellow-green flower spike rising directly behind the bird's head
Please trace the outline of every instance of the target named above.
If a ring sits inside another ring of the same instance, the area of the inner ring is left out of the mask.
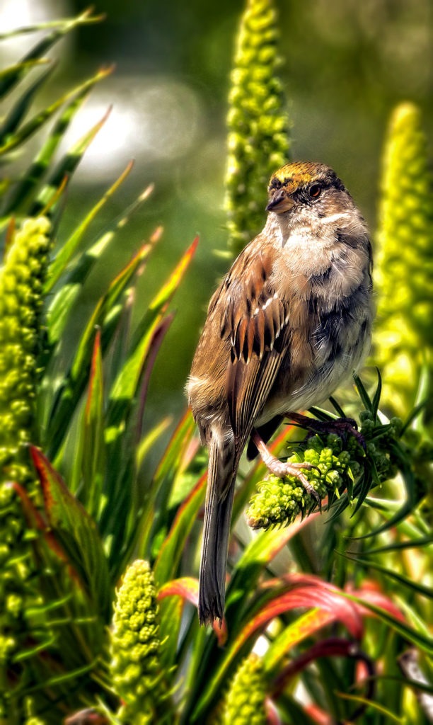
[[[277,77],[277,41],[273,0],[247,0],[237,35],[227,117],[225,205],[228,243],[235,255],[261,230],[269,178],[288,159],[289,124]]]

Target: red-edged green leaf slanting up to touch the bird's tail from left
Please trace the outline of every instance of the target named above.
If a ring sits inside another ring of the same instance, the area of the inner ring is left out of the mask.
[[[159,586],[175,576],[186,540],[204,501],[206,480],[207,474],[203,473],[177,510],[172,527],[159,550],[154,566],[155,579]]]

